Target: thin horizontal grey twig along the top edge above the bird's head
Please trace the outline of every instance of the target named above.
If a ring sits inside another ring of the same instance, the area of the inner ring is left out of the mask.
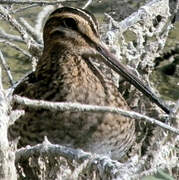
[[[58,0],[58,1],[26,1],[26,0],[0,0],[0,4],[38,4],[39,6],[43,5],[57,5],[61,4],[62,2],[77,2],[77,1],[67,1],[67,0]]]

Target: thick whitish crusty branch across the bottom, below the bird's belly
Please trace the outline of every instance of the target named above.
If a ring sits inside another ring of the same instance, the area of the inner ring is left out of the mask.
[[[161,150],[158,149],[158,151],[160,152]],[[17,150],[15,161],[16,164],[20,164],[21,162],[24,162],[32,157],[36,157],[36,159],[38,159],[39,157],[47,157],[51,160],[58,159],[58,166],[61,166],[60,161],[61,158],[64,157],[68,163],[64,163],[63,160],[64,166],[60,169],[67,177],[69,177],[69,175],[71,178],[73,177],[72,179],[78,179],[82,176],[82,174],[85,174],[85,179],[134,180],[139,179],[144,175],[154,174],[161,168],[165,169],[167,168],[167,166],[176,166],[176,158],[168,162],[168,160],[165,159],[166,152],[164,151],[164,153],[162,154],[158,153],[158,151],[156,151],[155,153],[158,154],[160,158],[162,158],[162,163],[156,161],[156,164],[152,169],[143,171],[144,162],[147,160],[146,156],[141,159],[136,156],[129,159],[125,163],[120,163],[118,161],[111,160],[108,156],[91,154],[80,149],[73,149],[66,146],[51,144],[45,137],[45,140],[42,144],[27,146],[26,148]],[[168,151],[171,151],[171,148],[168,148]],[[39,162],[39,160],[37,162]],[[73,162],[72,170],[70,169],[70,162]],[[51,169],[47,168],[46,171],[51,171]],[[55,171],[58,170],[56,169]],[[62,177],[62,172],[60,174],[60,177]],[[66,179],[65,176],[64,179]]]

